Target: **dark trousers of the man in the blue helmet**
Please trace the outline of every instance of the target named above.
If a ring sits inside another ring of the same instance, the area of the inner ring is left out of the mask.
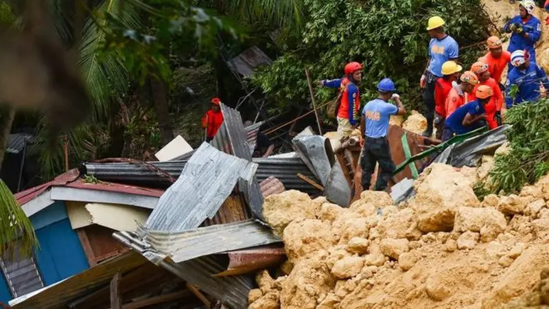
[[[373,139],[366,137],[364,140],[364,148],[362,149],[362,157],[360,157],[360,165],[362,165],[362,190],[369,190],[372,180],[372,174],[375,170],[375,163],[379,163],[377,172],[377,181],[375,182],[375,191],[383,191],[387,187],[389,180],[395,172],[395,164],[390,159],[389,142],[385,137]]]

